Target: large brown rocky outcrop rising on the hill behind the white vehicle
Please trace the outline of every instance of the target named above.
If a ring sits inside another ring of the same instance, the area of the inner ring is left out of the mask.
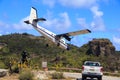
[[[93,39],[88,45],[87,54],[108,56],[115,53],[115,47],[109,39]]]

